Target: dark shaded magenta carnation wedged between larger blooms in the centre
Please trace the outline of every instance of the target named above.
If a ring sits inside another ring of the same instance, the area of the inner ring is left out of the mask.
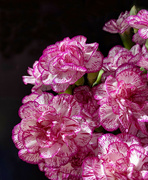
[[[94,99],[92,89],[89,86],[79,86],[74,89],[74,98],[81,103],[81,115],[87,119],[89,126],[94,130],[100,126],[99,115],[97,110],[99,105]]]

